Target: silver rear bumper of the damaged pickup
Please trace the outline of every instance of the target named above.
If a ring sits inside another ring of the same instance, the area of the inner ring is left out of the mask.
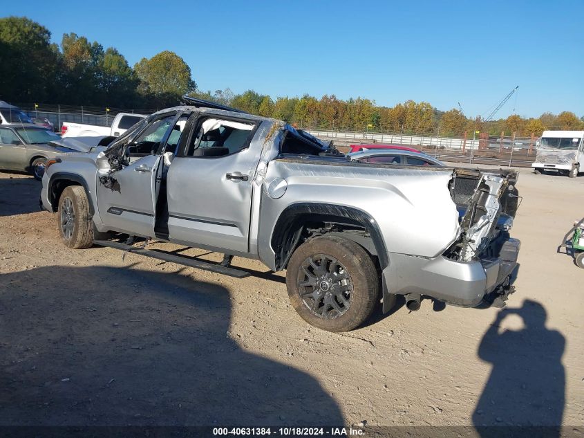
[[[507,239],[497,257],[468,263],[443,256],[426,259],[392,253],[390,264],[383,271],[384,295],[420,293],[449,304],[476,307],[483,300],[490,300],[490,294],[507,283],[517,265],[519,248],[518,239]]]

